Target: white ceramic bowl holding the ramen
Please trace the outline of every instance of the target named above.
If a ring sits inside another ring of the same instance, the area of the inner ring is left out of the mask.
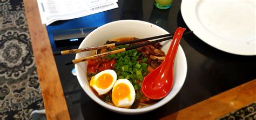
[[[105,24],[95,31],[91,32],[84,41],[80,44],[79,48],[93,47],[104,44],[107,40],[114,38],[123,37],[136,37],[136,38],[148,38],[150,36],[157,36],[168,34],[163,28],[153,25],[149,22],[138,21],[138,20],[119,20]],[[170,46],[170,41],[164,41],[163,50],[165,54]],[[90,56],[95,54],[95,51],[86,51],[84,53],[76,54],[76,59],[80,57]],[[142,114],[144,112],[149,112],[151,110],[157,109],[163,106],[165,103],[173,99],[173,97],[180,91],[184,84],[187,72],[187,62],[183,49],[179,46],[176,60],[174,63],[174,84],[171,92],[152,106],[140,108],[140,109],[125,109],[111,106],[100,100],[91,90],[86,77],[87,62],[78,63],[75,65],[77,72],[77,79],[79,84],[84,89],[85,93],[91,97],[92,100],[100,104],[106,109],[109,109],[120,114]],[[171,109],[171,108],[170,108]]]

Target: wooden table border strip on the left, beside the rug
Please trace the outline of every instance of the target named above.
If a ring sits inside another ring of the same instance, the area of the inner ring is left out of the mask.
[[[24,6],[46,117],[48,120],[70,119],[48,34],[39,16],[37,1],[24,0]]]

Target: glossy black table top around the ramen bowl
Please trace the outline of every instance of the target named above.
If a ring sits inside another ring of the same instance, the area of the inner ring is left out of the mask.
[[[181,0],[173,1],[171,8],[167,10],[158,9],[153,5],[153,2],[153,0],[119,0],[117,9],[82,18],[54,22],[47,26],[52,50],[78,48],[78,46],[57,48],[52,37],[54,31],[99,27],[116,20],[148,21],[170,33],[173,33],[178,26],[187,28],[180,12]],[[180,45],[187,59],[187,76],[180,92],[163,107],[146,114],[132,116],[106,110],[86,95],[77,78],[71,74],[74,65],[64,65],[66,61],[75,58],[75,55],[55,56],[71,119],[103,119],[110,117],[157,119],[256,78],[256,56],[239,56],[225,53],[209,46],[193,34],[184,36]]]

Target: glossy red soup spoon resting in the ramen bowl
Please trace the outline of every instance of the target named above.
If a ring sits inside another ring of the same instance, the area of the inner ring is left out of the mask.
[[[165,60],[158,68],[147,74],[146,78],[143,80],[142,92],[150,99],[162,99],[171,91],[173,86],[174,58],[184,31],[185,28],[182,27],[176,29]]]

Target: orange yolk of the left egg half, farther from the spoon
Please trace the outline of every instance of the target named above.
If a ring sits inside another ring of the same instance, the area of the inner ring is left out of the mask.
[[[98,77],[97,80],[92,78],[90,85],[96,85],[98,88],[106,89],[113,82],[113,77],[109,73],[104,73]]]

